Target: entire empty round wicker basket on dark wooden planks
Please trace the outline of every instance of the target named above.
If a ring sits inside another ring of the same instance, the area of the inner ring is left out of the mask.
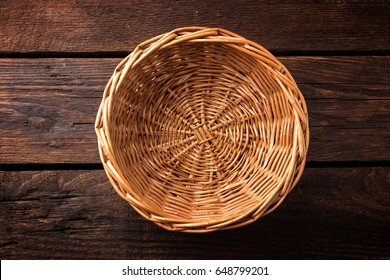
[[[140,44],[115,69],[96,119],[118,194],[177,231],[249,224],[296,185],[309,143],[304,98],[266,49],[220,28]]]

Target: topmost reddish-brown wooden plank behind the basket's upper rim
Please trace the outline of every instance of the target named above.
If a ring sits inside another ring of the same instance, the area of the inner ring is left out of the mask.
[[[279,52],[384,51],[389,1],[0,2],[0,52],[128,52],[158,34],[217,26]]]

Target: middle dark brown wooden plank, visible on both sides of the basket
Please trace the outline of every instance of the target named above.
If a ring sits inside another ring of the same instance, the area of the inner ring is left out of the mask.
[[[390,159],[390,57],[284,57],[309,108],[311,161]],[[0,163],[99,163],[93,130],[119,59],[1,59]]]

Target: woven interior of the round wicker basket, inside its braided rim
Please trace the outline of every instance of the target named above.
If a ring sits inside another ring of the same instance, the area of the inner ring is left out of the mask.
[[[234,45],[161,49],[127,73],[110,105],[120,187],[152,213],[247,215],[291,185],[294,112],[267,68]]]

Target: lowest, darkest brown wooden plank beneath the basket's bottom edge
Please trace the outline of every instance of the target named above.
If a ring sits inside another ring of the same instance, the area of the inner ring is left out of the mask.
[[[210,234],[141,218],[102,170],[0,172],[1,259],[390,257],[390,168],[307,168],[261,220]]]

